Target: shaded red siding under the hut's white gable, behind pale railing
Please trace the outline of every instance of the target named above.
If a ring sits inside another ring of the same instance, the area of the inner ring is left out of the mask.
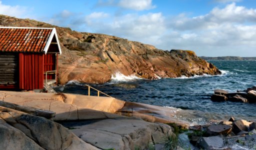
[[[44,55],[43,70],[44,71],[55,70],[56,69],[55,63],[56,63],[55,53],[47,53],[46,55]],[[45,79],[45,74],[43,75],[43,78]],[[55,74],[47,74],[47,79],[55,79]]]

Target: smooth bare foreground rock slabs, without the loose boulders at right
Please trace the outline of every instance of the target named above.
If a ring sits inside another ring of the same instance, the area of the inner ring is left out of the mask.
[[[9,108],[1,110],[1,123],[3,126],[8,124],[2,129],[4,136],[11,138],[11,132],[5,130],[14,129],[29,140],[10,140],[23,147],[33,145],[32,149],[163,149],[168,137],[176,136],[166,123],[177,123],[183,128],[189,125],[189,122],[174,119],[174,109],[126,103],[112,97],[0,91],[0,99],[55,112],[55,116],[48,120]],[[131,115],[127,115],[131,107]],[[119,115],[124,111],[126,116]],[[23,115],[25,119],[21,121],[19,116],[23,119]],[[54,134],[49,136],[49,133]],[[19,146],[6,144],[6,140],[0,142],[1,148],[19,149]]]

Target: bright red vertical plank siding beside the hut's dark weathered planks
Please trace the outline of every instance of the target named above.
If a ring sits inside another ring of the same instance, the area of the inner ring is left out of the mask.
[[[19,88],[43,88],[44,54],[19,53]]]

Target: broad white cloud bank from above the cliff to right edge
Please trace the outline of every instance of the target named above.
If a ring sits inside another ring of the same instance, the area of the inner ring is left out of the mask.
[[[69,13],[67,13],[69,14]],[[64,15],[65,16],[65,15]],[[72,14],[65,24],[78,31],[105,33],[160,49],[191,49],[198,55],[256,56],[256,9],[230,3],[208,13],[165,17],[161,12],[114,15]],[[59,20],[59,23],[61,20]],[[66,26],[66,25],[64,25]]]

